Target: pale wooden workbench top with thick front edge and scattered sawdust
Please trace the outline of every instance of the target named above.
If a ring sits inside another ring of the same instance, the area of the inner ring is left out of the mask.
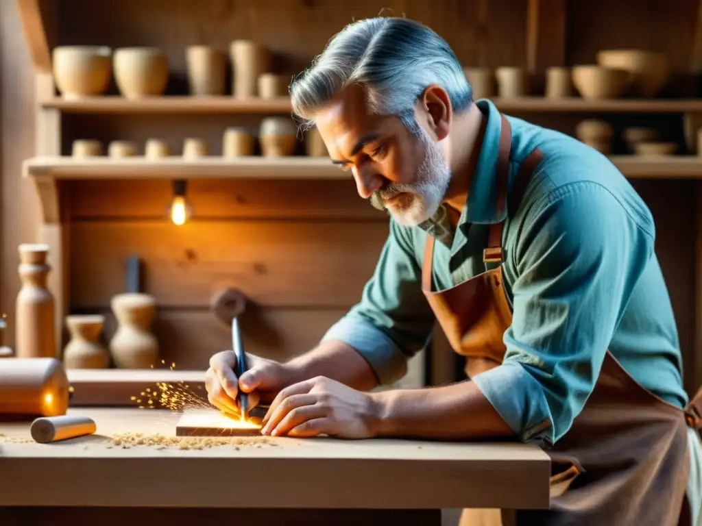
[[[31,422],[0,422],[0,506],[548,507],[550,459],[536,445],[180,438],[181,414],[166,410],[69,414],[97,433],[39,444]],[[165,444],[144,444],[155,435]]]

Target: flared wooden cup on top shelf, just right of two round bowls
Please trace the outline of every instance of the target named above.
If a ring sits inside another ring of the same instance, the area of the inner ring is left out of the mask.
[[[190,95],[224,95],[227,57],[210,46],[189,46],[185,50]]]

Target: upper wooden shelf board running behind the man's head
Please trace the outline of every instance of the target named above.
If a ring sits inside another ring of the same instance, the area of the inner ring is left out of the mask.
[[[585,100],[581,97],[547,99],[520,97],[492,101],[501,111],[543,113],[702,113],[702,100],[696,99],[613,99]],[[128,100],[119,96],[86,97],[64,100],[53,97],[40,102],[41,107],[55,108],[66,113],[84,114],[289,114],[289,97],[237,99],[231,96],[213,97],[147,97]]]

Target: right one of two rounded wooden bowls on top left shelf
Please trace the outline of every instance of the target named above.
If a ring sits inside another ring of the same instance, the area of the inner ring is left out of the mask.
[[[168,82],[168,58],[159,48],[119,48],[114,52],[114,81],[128,99],[161,95]]]

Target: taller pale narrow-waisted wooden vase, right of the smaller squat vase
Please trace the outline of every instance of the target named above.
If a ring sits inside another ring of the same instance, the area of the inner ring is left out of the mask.
[[[117,331],[110,340],[110,353],[121,369],[148,369],[157,364],[159,343],[150,327],[156,312],[155,299],[147,294],[126,292],[110,302]]]

